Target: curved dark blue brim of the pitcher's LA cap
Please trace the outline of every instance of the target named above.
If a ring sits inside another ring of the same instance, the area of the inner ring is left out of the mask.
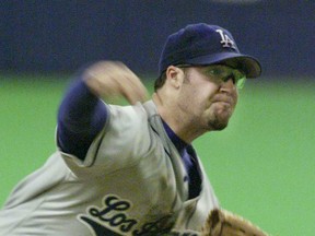
[[[196,66],[207,66],[223,62],[233,68],[240,68],[249,79],[257,78],[261,74],[261,66],[256,58],[235,52],[207,55],[198,58],[191,58],[185,62]]]

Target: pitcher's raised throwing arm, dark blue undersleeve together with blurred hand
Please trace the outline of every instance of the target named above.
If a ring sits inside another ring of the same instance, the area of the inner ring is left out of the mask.
[[[121,62],[96,62],[80,76],[60,105],[57,141],[61,151],[84,160],[108,116],[100,97],[121,96],[136,104],[144,102],[148,93],[140,79]]]

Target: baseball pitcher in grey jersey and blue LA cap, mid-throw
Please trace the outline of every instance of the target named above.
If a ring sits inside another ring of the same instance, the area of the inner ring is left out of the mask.
[[[60,104],[57,151],[14,188],[0,235],[266,235],[220,209],[191,145],[228,126],[260,72],[229,31],[205,23],[167,37],[150,99],[124,63],[85,67]]]

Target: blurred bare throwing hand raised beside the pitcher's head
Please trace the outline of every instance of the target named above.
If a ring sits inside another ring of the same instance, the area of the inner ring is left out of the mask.
[[[83,80],[96,96],[104,99],[122,96],[136,104],[148,98],[148,91],[140,79],[121,62],[96,62],[85,70]]]

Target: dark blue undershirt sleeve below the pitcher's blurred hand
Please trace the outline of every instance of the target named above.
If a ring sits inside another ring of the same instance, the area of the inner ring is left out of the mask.
[[[81,79],[75,81],[58,111],[57,145],[60,151],[84,161],[107,116],[105,104]]]

